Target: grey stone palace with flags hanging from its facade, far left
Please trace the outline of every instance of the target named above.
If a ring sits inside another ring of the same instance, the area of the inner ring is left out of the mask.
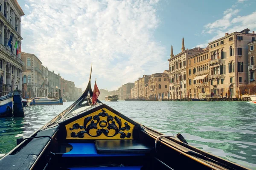
[[[20,17],[24,13],[17,0],[0,0],[0,13],[0,92],[21,90],[24,62],[18,49],[23,40]]]

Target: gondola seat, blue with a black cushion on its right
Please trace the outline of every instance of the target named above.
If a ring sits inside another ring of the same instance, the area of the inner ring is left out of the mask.
[[[101,156],[144,156],[151,153],[152,147],[136,140],[96,140],[95,143],[69,143],[72,150],[62,157],[101,157]]]

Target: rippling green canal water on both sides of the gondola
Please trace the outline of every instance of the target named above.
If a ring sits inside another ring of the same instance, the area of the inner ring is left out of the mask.
[[[105,102],[116,111],[164,134],[181,133],[201,150],[256,169],[256,105],[250,102]],[[31,135],[70,106],[31,106],[24,118],[0,118],[0,158],[16,139]]]

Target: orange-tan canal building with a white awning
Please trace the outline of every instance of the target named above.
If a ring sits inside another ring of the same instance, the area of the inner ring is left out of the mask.
[[[187,92],[189,98],[205,98],[209,92],[209,46],[188,58]]]

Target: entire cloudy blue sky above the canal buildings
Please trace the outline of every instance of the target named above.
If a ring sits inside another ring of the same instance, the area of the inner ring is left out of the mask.
[[[207,47],[226,32],[256,31],[256,0],[17,0],[22,51],[84,90],[117,90],[169,69],[173,45]]]

